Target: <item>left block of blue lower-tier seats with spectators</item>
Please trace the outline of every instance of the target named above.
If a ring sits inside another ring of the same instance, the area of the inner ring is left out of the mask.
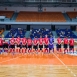
[[[14,36],[15,38],[17,38],[17,36],[20,36],[21,38],[23,38],[25,36],[25,29],[11,29],[7,35],[5,36],[5,38],[11,38],[12,36]]]

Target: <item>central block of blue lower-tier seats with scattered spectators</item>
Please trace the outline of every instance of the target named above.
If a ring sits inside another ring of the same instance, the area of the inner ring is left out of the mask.
[[[30,37],[33,39],[34,37],[40,38],[40,35],[44,38],[45,35],[48,35],[48,37],[50,37],[50,35],[52,34],[52,30],[51,29],[32,29],[31,30],[31,34]]]

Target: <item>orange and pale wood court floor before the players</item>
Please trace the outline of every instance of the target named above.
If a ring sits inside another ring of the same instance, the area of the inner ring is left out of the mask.
[[[77,77],[77,56],[0,55],[0,77]]]

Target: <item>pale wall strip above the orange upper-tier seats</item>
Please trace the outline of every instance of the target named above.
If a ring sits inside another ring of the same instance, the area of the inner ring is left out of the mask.
[[[38,7],[0,7],[0,10],[7,10],[10,11],[38,11]],[[77,11],[77,7],[43,7],[43,11],[61,11],[61,12],[66,12],[66,11],[74,11],[74,9]]]

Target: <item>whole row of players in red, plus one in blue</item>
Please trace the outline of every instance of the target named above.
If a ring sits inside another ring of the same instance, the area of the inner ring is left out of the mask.
[[[62,42],[64,43],[64,52],[67,50],[68,51],[68,44],[69,44],[69,50],[73,50],[74,52],[74,39],[71,38],[68,40],[67,37],[62,40],[60,37],[57,38],[57,51],[62,51],[61,50],[61,44]],[[16,46],[16,47],[15,47]],[[45,36],[45,38],[34,38],[33,40],[31,38],[26,39],[20,38],[14,38],[12,37],[8,42],[3,41],[2,38],[0,38],[0,51],[2,48],[5,51],[8,51],[8,48],[10,49],[10,52],[32,52],[32,49],[35,49],[35,51],[43,51],[43,52],[50,52],[50,50],[53,50],[54,52],[54,38],[51,36],[50,38]],[[16,50],[15,50],[16,49]]]

